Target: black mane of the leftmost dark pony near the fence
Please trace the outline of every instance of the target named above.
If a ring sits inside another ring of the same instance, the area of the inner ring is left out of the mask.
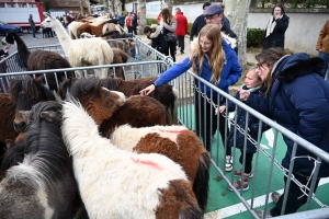
[[[34,100],[44,97],[44,100],[55,101],[54,93],[46,87],[38,84],[35,80],[32,78],[12,80],[9,89],[12,100],[16,101],[20,92],[24,91],[26,96]]]

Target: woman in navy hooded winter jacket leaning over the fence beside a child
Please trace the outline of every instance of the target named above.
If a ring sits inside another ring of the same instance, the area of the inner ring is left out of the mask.
[[[321,74],[324,60],[318,57],[310,58],[304,53],[291,56],[285,54],[282,48],[265,49],[256,59],[258,73],[268,84],[268,96],[261,99],[249,91],[241,90],[240,100],[246,101],[246,104],[276,120],[292,132],[329,152],[329,87]],[[294,142],[285,136],[283,139],[287,151],[282,160],[282,165],[288,169]],[[315,160],[310,158],[316,159],[311,152],[303,147],[297,147],[293,174],[299,183],[308,188],[315,168]],[[329,163],[322,161],[315,192],[319,177],[328,176]],[[285,183],[286,180],[284,176]],[[293,181],[290,189],[284,193],[288,193],[284,215],[296,212],[307,200],[307,196]],[[266,214],[266,217],[280,216],[284,196],[274,192],[271,197],[276,204]],[[259,216],[263,216],[262,210],[256,211]]]

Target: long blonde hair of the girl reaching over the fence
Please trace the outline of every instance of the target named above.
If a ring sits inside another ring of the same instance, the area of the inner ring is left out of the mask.
[[[205,25],[197,36],[200,39],[201,36],[207,37],[213,43],[213,49],[209,57],[209,67],[212,67],[212,78],[211,82],[215,85],[220,82],[220,73],[225,62],[225,53],[222,46],[222,35],[218,25],[216,24],[207,24]],[[194,53],[191,57],[192,66],[196,69],[196,65],[200,65],[200,69],[197,74],[201,74],[203,69],[205,54],[202,51],[200,44],[195,46]]]

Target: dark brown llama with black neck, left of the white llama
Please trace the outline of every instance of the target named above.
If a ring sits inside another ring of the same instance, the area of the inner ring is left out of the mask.
[[[23,39],[14,32],[8,32],[5,37],[2,39],[3,43],[14,44],[16,43],[18,54],[29,71],[34,70],[47,70],[47,69],[61,69],[71,68],[67,59],[61,57],[59,54],[47,50],[35,50],[30,51],[23,42]],[[64,72],[57,72],[57,81],[60,83],[65,78]],[[72,71],[67,72],[67,76],[75,77]],[[55,74],[47,73],[46,79],[50,90],[57,90]]]

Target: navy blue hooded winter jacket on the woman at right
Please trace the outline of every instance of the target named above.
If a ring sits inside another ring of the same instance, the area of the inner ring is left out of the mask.
[[[307,54],[283,57],[273,68],[275,81],[270,90],[269,100],[252,93],[247,104],[276,120],[280,125],[329,152],[329,85],[321,76],[324,60],[310,58]],[[293,141],[283,136],[287,146],[282,161],[288,169]],[[303,147],[297,147],[296,157],[314,157]],[[310,175],[314,160],[296,158],[294,172]],[[319,177],[329,176],[329,163],[320,165]]]

